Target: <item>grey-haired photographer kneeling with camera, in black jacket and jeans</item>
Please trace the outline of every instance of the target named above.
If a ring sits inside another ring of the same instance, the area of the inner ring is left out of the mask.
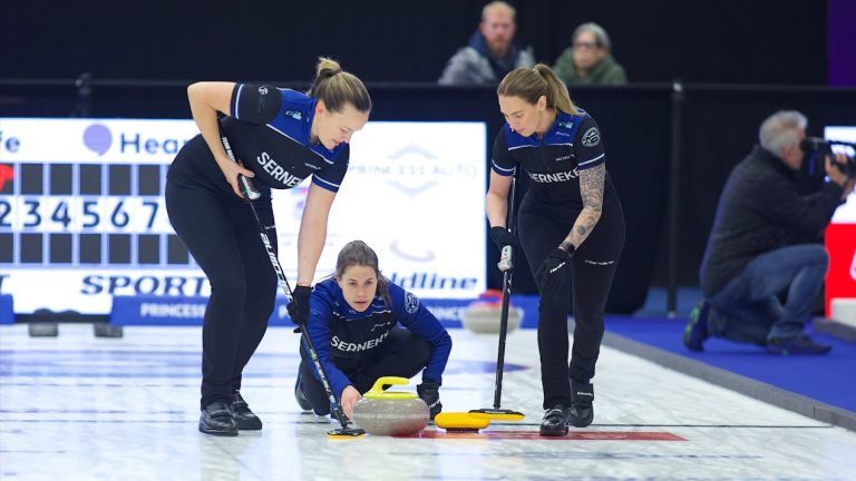
[[[701,264],[704,300],[690,314],[683,343],[702,351],[711,335],[766,346],[770,354],[826,354],[802,333],[829,257],[820,244],[835,209],[853,192],[844,155],[825,156],[829,178],[810,195],[797,190],[806,117],[779,111],[760,128],[760,146],[728,177]],[[787,289],[782,304],[778,295]]]

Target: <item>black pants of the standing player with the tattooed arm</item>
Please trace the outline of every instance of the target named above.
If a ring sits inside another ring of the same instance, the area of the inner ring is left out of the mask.
[[[553,212],[552,212],[553,210]],[[517,217],[517,233],[533,276],[547,255],[565,239],[577,212],[556,215],[555,207],[539,206],[527,195]],[[538,352],[544,409],[571,405],[571,379],[588,383],[601,352],[603,314],[612,278],[624,246],[624,214],[616,196],[604,200],[603,214],[574,253],[563,292],[541,292]],[[574,344],[568,364],[567,313],[573,295]]]

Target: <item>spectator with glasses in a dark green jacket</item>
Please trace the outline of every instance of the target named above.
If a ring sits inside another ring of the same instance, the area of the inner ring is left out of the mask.
[[[610,36],[597,23],[574,30],[571,47],[556,59],[553,71],[567,85],[624,85],[628,76],[610,53]]]

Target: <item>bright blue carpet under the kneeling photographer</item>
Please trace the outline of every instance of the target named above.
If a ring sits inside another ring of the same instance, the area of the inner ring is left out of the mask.
[[[606,330],[621,336],[856,412],[856,343],[814,333],[818,342],[833,345],[829,354],[774,356],[761,347],[711,337],[703,353],[693,353],[681,342],[685,324],[685,314],[677,318],[609,315],[605,320]]]

